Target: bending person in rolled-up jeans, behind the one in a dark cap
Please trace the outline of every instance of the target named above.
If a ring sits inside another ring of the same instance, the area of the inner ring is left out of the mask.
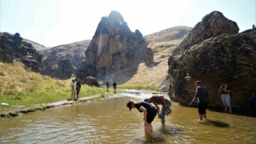
[[[151,103],[151,102],[154,103],[154,106],[156,106],[156,108],[158,110],[158,118],[161,118],[162,126],[166,126],[165,125],[165,122],[166,122],[165,116],[167,114],[171,113],[171,110],[170,110],[171,102],[170,102],[170,100],[168,100],[167,98],[164,98],[163,96],[153,95],[150,98],[144,99],[144,101],[149,102],[149,103]],[[160,114],[159,114],[159,106],[158,105],[162,105],[162,110],[161,110]]]

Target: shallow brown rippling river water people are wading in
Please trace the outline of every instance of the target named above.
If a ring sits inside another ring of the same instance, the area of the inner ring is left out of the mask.
[[[256,118],[207,111],[172,102],[166,128],[155,118],[153,135],[145,137],[143,115],[126,102],[152,94],[115,94],[86,102],[0,120],[0,143],[254,143]]]

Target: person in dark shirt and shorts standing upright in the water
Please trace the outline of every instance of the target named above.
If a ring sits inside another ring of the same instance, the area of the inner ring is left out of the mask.
[[[208,90],[205,86],[202,86],[201,81],[197,81],[194,83],[195,86],[197,86],[193,101],[198,98],[198,113],[199,118],[202,121],[202,118],[206,119],[206,106],[209,102],[209,94]]]

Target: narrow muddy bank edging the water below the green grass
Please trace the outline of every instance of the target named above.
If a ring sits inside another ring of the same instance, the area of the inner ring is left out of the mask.
[[[106,89],[102,89],[102,90],[106,91]],[[125,90],[117,90],[117,94],[120,94],[124,91]],[[20,106],[20,108],[19,108],[20,110],[12,110],[7,113],[1,112],[0,119],[11,118],[11,117],[18,116],[19,114],[26,114],[26,113],[35,112],[38,110],[47,110],[47,109],[58,107],[58,106],[74,105],[75,103],[79,103],[79,102],[97,101],[97,100],[101,100],[102,98],[107,98],[108,96],[113,95],[113,94],[116,94],[116,93],[114,93],[114,90],[109,90],[102,94],[80,96],[79,99],[68,98],[66,100],[62,100],[62,101],[58,101],[58,102],[34,104],[33,106],[29,106],[29,107],[21,107]]]

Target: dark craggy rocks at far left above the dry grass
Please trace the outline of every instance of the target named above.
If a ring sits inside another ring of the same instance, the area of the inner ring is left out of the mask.
[[[22,62],[26,68],[34,72],[42,72],[41,55],[30,43],[23,42],[20,34],[1,33],[0,35],[1,62],[13,62],[16,60]]]

